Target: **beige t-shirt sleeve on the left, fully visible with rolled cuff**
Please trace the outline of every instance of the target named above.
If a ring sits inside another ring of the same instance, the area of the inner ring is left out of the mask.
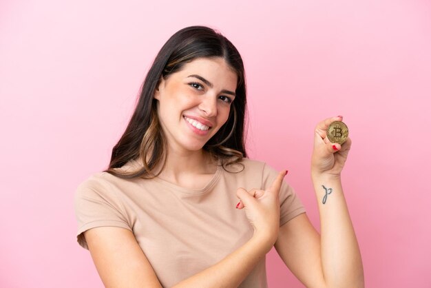
[[[122,227],[132,230],[114,189],[103,179],[90,177],[81,183],[74,194],[74,209],[78,221],[76,240],[88,249],[83,232],[103,226]]]

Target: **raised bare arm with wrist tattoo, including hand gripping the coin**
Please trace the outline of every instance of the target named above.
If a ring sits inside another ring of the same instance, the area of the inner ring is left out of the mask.
[[[311,176],[322,235],[302,214],[280,227],[275,243],[286,266],[308,287],[364,287],[359,245],[341,187],[351,141],[340,146],[326,137],[328,125],[341,119],[326,119],[315,130]]]

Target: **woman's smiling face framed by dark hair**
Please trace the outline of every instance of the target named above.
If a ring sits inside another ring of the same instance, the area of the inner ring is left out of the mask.
[[[198,58],[162,79],[154,98],[170,148],[197,151],[226,123],[237,75],[221,57]]]

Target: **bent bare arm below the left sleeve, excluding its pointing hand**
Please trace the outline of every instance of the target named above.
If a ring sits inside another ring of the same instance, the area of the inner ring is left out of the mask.
[[[105,287],[162,287],[130,230],[97,227],[87,230],[85,239]],[[174,287],[238,287],[272,245],[268,239],[253,236],[219,263]]]

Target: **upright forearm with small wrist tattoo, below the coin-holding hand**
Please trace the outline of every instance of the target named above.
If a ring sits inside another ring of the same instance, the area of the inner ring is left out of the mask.
[[[327,287],[364,287],[359,245],[341,178],[313,176],[321,225],[322,269]]]

